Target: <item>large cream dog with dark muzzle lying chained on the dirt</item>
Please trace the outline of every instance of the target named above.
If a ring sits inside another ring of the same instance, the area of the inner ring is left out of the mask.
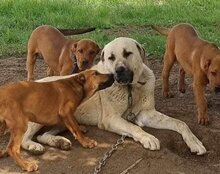
[[[120,37],[107,44],[102,51],[100,62],[93,69],[102,73],[113,73],[116,82],[110,88],[96,93],[81,104],[75,113],[77,121],[81,124],[97,125],[100,129],[120,135],[127,135],[150,150],[159,150],[160,142],[141,127],[169,129],[182,135],[191,152],[197,155],[206,153],[203,144],[184,122],[155,110],[155,76],[152,70],[143,63],[143,58],[143,48],[133,39]],[[65,77],[48,77],[40,81],[58,78]],[[127,84],[132,85],[132,111],[136,115],[135,124],[122,118],[128,109]],[[29,124],[22,143],[24,149],[32,152],[44,151],[41,144],[31,140],[41,127],[39,124]],[[51,146],[56,146],[56,142],[63,142],[62,147],[70,146],[69,140],[55,136],[58,132],[58,129],[51,130],[38,136],[37,139]]]

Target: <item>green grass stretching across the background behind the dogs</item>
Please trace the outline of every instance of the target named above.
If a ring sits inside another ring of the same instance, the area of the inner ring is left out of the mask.
[[[132,37],[155,57],[162,57],[166,38],[146,27],[151,24],[188,22],[202,38],[220,45],[219,9],[219,0],[1,0],[0,57],[25,56],[28,37],[43,24],[96,27],[73,38],[91,38],[100,46],[118,36]]]

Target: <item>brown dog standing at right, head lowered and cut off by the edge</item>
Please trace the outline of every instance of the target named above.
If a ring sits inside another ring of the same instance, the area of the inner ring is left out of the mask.
[[[177,61],[180,64],[179,91],[185,92],[185,73],[192,75],[198,123],[208,124],[204,87],[210,84],[216,91],[220,89],[220,50],[215,44],[200,39],[189,24],[179,24],[171,29],[153,28],[167,36],[162,73],[163,95],[172,97],[169,91],[169,74]]]

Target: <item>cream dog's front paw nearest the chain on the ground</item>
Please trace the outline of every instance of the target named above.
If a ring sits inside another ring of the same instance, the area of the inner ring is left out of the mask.
[[[146,149],[160,150],[159,140],[152,135],[144,136],[140,142]]]

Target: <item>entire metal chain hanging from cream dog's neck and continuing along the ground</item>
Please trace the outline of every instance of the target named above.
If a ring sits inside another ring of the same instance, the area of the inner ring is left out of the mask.
[[[132,86],[128,85],[128,115],[126,119],[130,122],[135,121],[135,114],[132,112],[132,105],[133,105],[133,99],[132,99]],[[98,174],[101,172],[102,167],[105,166],[106,161],[108,158],[112,156],[112,154],[117,150],[119,145],[122,145],[125,141],[126,135],[122,135],[121,138],[119,138],[116,143],[112,146],[111,150],[105,152],[103,158],[99,161],[99,164],[95,167],[94,174]]]

